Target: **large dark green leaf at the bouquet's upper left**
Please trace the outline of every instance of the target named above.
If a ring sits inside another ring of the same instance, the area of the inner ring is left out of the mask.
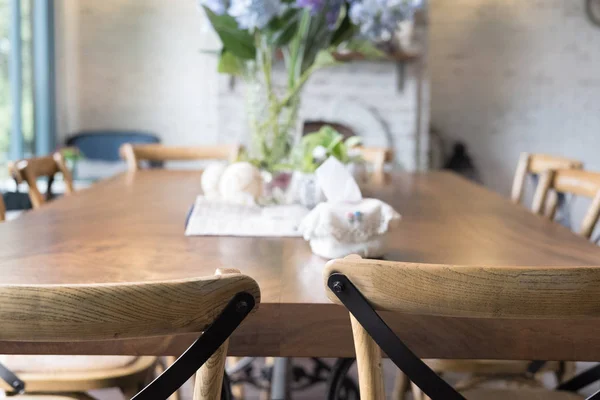
[[[250,32],[240,29],[230,15],[217,15],[207,7],[204,10],[227,51],[245,60],[256,58],[256,47]]]

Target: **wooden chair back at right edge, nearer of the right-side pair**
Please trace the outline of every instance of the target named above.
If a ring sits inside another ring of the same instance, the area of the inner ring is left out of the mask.
[[[534,195],[533,211],[554,219],[558,194],[572,194],[592,199],[592,204],[579,229],[579,234],[589,239],[600,216],[600,172],[573,169],[544,172]]]

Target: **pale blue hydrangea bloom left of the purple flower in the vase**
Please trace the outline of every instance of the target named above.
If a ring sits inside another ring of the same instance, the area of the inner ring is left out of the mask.
[[[279,0],[232,0],[229,15],[235,18],[242,29],[262,29],[285,11]]]

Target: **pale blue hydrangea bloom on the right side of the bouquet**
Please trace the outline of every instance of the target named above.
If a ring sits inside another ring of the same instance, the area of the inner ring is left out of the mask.
[[[360,0],[350,5],[350,20],[360,34],[373,41],[392,38],[401,21],[413,17],[421,0]]]

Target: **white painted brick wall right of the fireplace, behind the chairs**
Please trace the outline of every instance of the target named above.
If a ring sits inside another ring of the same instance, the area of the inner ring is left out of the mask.
[[[508,195],[521,151],[600,170],[600,29],[584,1],[429,7],[432,125],[468,144],[487,186]]]

